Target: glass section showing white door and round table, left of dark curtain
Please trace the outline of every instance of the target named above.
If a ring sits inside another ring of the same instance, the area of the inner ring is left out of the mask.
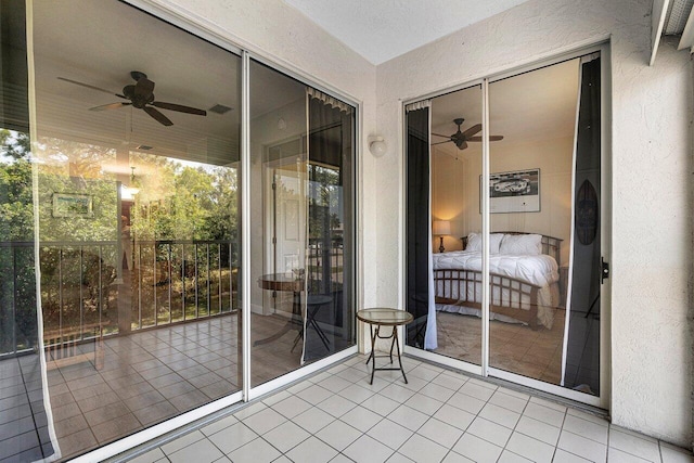
[[[250,385],[301,365],[306,86],[250,62]]]

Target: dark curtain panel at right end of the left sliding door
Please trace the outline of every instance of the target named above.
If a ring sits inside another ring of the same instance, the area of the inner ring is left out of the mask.
[[[354,110],[309,97],[305,360],[352,345]]]

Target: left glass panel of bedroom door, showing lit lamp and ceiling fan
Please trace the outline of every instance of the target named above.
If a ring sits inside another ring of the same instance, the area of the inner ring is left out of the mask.
[[[415,163],[422,163],[419,153],[408,151],[412,182],[408,207],[415,206],[419,172],[426,175],[430,169],[426,184],[420,185],[424,197],[428,198],[430,192],[430,213],[417,220],[426,220],[425,250],[430,253],[433,266],[432,286],[408,287],[408,304],[424,308],[408,330],[408,345],[476,365],[481,365],[481,100],[480,86],[433,99],[427,143],[430,154],[426,153],[430,167],[417,166]],[[417,130],[411,129],[408,140],[415,143]],[[434,294],[427,296],[430,288]],[[426,314],[426,323],[422,314]]]

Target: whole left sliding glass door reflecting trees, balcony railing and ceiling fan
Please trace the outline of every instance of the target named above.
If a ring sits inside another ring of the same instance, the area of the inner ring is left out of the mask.
[[[0,460],[354,348],[356,108],[118,0],[28,7],[0,5]]]

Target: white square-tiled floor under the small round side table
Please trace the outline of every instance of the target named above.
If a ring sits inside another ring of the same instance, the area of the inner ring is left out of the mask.
[[[694,462],[597,415],[403,359],[362,356],[142,453],[145,462]]]

